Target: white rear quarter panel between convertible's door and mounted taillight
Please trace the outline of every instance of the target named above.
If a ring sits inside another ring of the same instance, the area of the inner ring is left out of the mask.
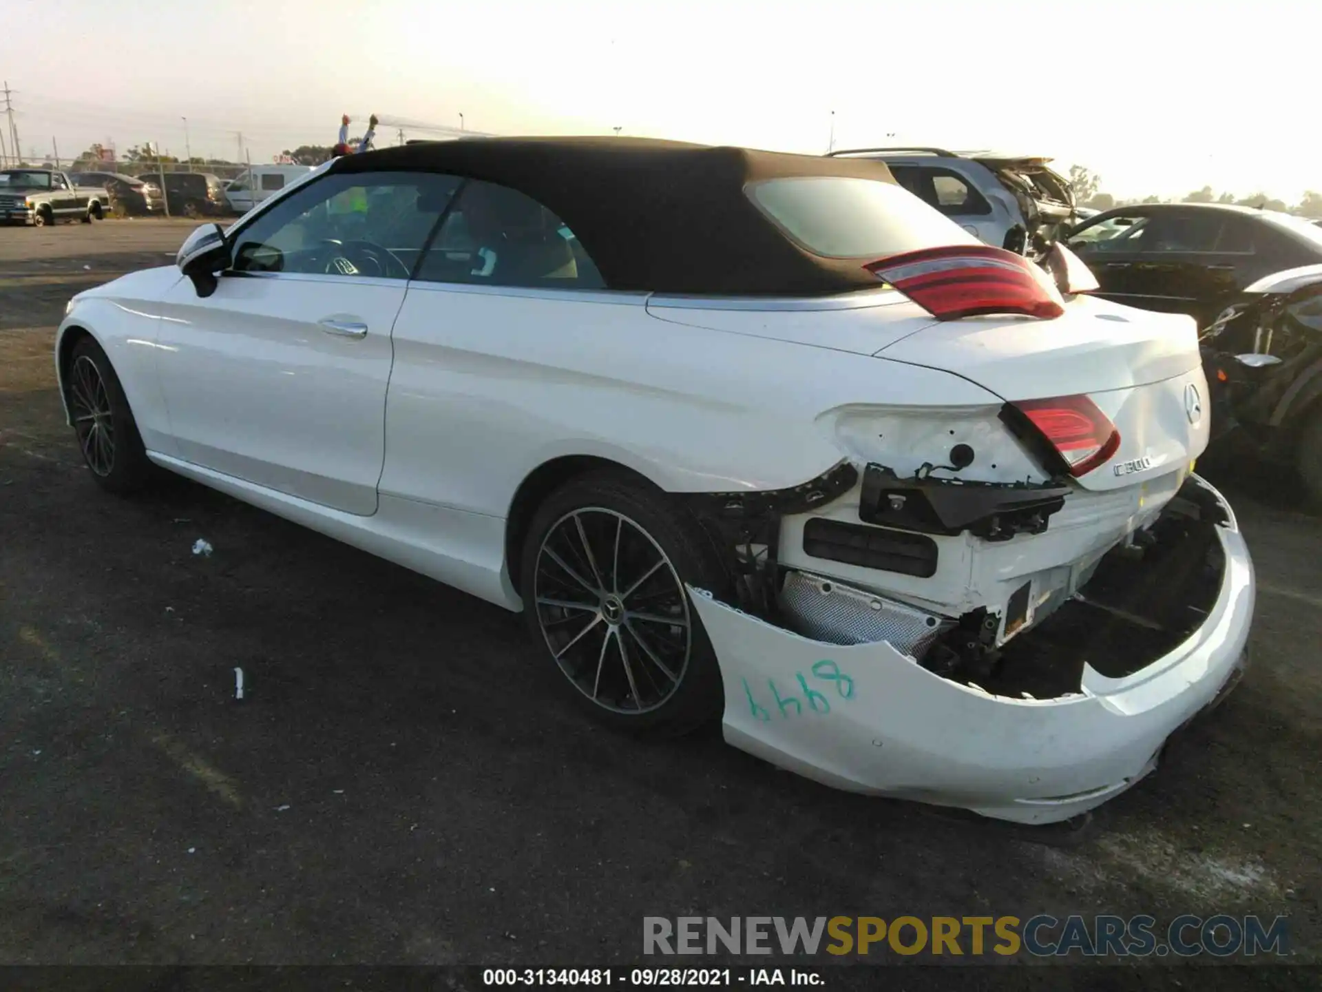
[[[944,372],[660,320],[645,299],[410,286],[382,495],[505,516],[522,480],[566,455],[617,462],[672,492],[779,489],[847,455],[830,410],[995,402]],[[822,340],[838,316],[818,315]]]

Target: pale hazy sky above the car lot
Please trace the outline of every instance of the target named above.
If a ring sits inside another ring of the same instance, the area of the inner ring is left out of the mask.
[[[1314,0],[4,0],[24,151],[254,161],[340,114],[820,153],[995,147],[1117,196],[1322,190]],[[99,26],[98,26],[99,25]],[[5,131],[5,134],[8,134]],[[412,136],[426,136],[420,132]],[[378,144],[386,140],[382,135]]]

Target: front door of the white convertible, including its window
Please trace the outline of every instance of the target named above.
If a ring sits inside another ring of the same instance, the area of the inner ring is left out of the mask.
[[[180,456],[346,513],[377,509],[390,333],[457,180],[327,175],[230,237],[212,296],[167,295],[157,368]]]

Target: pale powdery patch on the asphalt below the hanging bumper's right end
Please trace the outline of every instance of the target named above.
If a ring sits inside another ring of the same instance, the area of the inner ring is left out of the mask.
[[[1281,885],[1256,854],[1235,857],[1179,848],[1155,831],[1117,832],[1092,848],[1039,848],[1046,868],[1084,891],[1126,886],[1138,877],[1183,897],[1214,902],[1231,895],[1276,897]]]

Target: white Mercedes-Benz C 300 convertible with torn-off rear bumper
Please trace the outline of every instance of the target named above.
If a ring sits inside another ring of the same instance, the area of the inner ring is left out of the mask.
[[[522,611],[568,694],[1023,823],[1235,684],[1194,321],[883,164],[609,139],[348,156],[82,292],[93,476],[194,479]]]

